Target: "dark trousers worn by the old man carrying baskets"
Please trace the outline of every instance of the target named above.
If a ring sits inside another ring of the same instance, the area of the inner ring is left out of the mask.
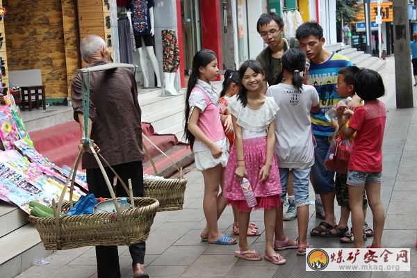
[[[128,185],[128,179],[131,179],[133,196],[143,197],[143,165],[142,161],[112,165],[115,172]],[[115,174],[110,168],[105,167],[108,179],[113,183]],[[87,169],[88,190],[95,197],[111,198],[106,181],[100,169]],[[117,180],[116,186],[113,187],[116,197],[129,197],[120,181]],[[117,246],[96,246],[97,259],[97,277],[98,278],[120,278],[119,253]],[[146,245],[138,243],[129,246],[129,252],[132,257],[132,264],[145,263]]]

